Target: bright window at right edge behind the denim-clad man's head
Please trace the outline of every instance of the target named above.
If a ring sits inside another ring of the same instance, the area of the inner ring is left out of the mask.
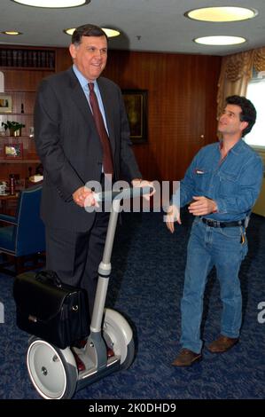
[[[246,97],[253,102],[257,110],[257,120],[251,132],[246,135],[246,143],[258,150],[265,151],[265,73],[263,76],[262,73],[255,75],[248,83]]]

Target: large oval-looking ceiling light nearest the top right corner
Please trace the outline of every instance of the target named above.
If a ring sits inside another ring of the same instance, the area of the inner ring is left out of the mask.
[[[256,10],[246,9],[245,7],[222,6],[194,9],[184,13],[184,16],[193,20],[225,22],[253,19],[257,14]]]

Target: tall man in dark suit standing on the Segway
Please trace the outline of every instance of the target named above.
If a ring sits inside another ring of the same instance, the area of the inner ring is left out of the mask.
[[[94,25],[77,28],[69,51],[73,67],[44,79],[38,90],[35,143],[44,169],[41,214],[46,226],[46,267],[63,282],[87,290],[91,313],[109,214],[84,209],[84,201],[96,204],[86,183],[102,183],[106,174],[105,145],[92,112],[88,83],[93,83],[111,148],[113,172],[107,174],[118,180],[122,171],[132,185],[139,186],[141,173],[130,147],[121,90],[112,81],[98,78],[107,60],[105,32]]]

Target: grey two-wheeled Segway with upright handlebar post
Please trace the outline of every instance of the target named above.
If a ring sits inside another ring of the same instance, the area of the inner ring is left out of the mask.
[[[118,311],[105,309],[111,255],[121,201],[151,193],[150,187],[130,188],[121,192],[97,194],[99,201],[112,201],[105,249],[98,267],[97,293],[90,323],[90,336],[84,349],[75,353],[85,365],[78,372],[74,353],[67,347],[58,349],[42,339],[32,336],[27,349],[27,370],[38,393],[46,399],[71,398],[74,392],[114,371],[127,369],[135,356],[133,333],[129,323]],[[113,356],[107,358],[107,348]]]

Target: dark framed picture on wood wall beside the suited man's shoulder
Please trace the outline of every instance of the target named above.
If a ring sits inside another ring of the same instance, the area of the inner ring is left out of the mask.
[[[147,90],[122,90],[133,144],[147,142]]]

